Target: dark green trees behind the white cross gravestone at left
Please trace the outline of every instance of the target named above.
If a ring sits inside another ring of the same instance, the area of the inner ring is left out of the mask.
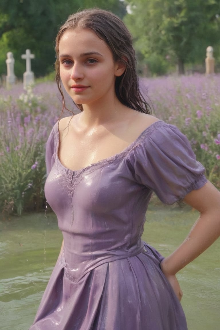
[[[126,13],[119,0],[8,0],[0,2],[0,75],[6,74],[6,53],[14,54],[15,74],[22,77],[25,61],[21,54],[31,49],[35,54],[32,70],[36,76],[53,71],[55,51],[53,42],[62,22],[79,9],[100,7],[109,9],[118,16]]]

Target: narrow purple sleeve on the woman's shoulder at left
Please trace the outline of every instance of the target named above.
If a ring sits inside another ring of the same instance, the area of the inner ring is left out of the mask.
[[[56,142],[58,139],[57,136],[58,136],[58,122],[53,126],[50,135],[47,139],[46,154],[45,154],[47,176],[50,173],[51,168],[54,164],[55,153],[56,153]]]

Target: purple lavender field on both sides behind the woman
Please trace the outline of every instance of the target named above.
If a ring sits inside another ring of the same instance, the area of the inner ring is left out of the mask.
[[[143,79],[153,115],[187,135],[207,178],[220,189],[220,75]],[[145,89],[145,88],[144,88]],[[61,113],[53,82],[0,88],[0,210],[19,215],[45,205],[45,144]],[[67,107],[76,112],[67,97]],[[65,115],[69,115],[68,112]]]

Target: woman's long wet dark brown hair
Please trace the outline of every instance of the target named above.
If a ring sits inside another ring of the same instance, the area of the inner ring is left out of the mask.
[[[115,93],[118,100],[129,108],[151,114],[150,106],[144,100],[139,87],[132,36],[119,17],[109,11],[98,8],[84,9],[70,15],[57,34],[55,43],[56,83],[61,93],[63,110],[67,108],[60,79],[59,43],[65,31],[76,28],[92,30],[109,47],[114,61],[121,61],[126,65],[123,75],[116,77],[115,80]],[[81,111],[83,110],[81,104],[76,104],[76,106]]]

